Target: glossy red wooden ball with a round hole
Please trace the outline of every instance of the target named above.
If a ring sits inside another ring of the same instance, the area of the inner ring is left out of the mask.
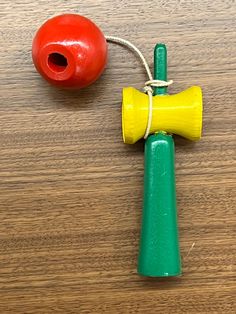
[[[107,61],[107,42],[88,18],[59,15],[37,31],[32,58],[38,72],[51,84],[83,88],[102,74]]]

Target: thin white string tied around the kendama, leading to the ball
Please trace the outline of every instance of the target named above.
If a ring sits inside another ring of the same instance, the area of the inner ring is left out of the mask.
[[[130,41],[120,38],[120,37],[115,37],[115,36],[105,36],[106,40],[109,42],[114,42],[120,45],[123,45],[125,47],[128,47],[130,50],[132,50],[142,61],[144,68],[147,72],[149,80],[145,82],[144,86],[144,92],[148,94],[149,98],[149,106],[148,106],[148,121],[147,121],[147,127],[146,131],[144,134],[144,139],[146,139],[150,133],[151,126],[152,126],[152,108],[153,108],[153,87],[167,87],[173,83],[173,80],[170,81],[162,81],[162,80],[154,80],[150,67],[147,63],[147,60],[145,59],[144,55],[142,52],[135,46],[133,45]]]

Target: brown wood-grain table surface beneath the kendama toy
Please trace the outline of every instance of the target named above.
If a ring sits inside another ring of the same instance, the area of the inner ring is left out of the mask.
[[[152,65],[169,51],[170,93],[204,93],[203,138],[176,138],[183,275],[137,275],[143,142],[121,137],[121,89],[140,62],[109,45],[91,87],[44,82],[31,41],[76,12],[131,40]],[[236,313],[235,1],[0,1],[0,313]]]

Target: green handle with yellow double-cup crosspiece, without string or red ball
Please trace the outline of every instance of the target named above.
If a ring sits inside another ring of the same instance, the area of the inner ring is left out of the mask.
[[[154,50],[154,79],[167,80],[167,50]],[[172,133],[199,140],[202,129],[202,93],[193,86],[167,95],[166,87],[154,90],[150,135],[145,142],[144,201],[138,272],[164,277],[181,274],[179,251],[174,141]],[[145,133],[149,98],[128,87],[123,89],[122,130],[125,143],[133,144]]]

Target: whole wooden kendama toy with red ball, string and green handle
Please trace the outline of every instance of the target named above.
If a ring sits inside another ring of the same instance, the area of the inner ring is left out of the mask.
[[[129,41],[104,36],[89,19],[67,14],[54,17],[36,33],[32,57],[38,72],[50,83],[83,88],[99,78],[107,61],[107,41],[136,53],[149,77],[144,93],[123,89],[122,133],[127,144],[144,138],[144,203],[138,272],[165,277],[181,274],[177,228],[174,141],[172,134],[199,140],[202,131],[202,93],[193,86],[168,95],[167,49],[154,50],[154,77],[140,50]]]

